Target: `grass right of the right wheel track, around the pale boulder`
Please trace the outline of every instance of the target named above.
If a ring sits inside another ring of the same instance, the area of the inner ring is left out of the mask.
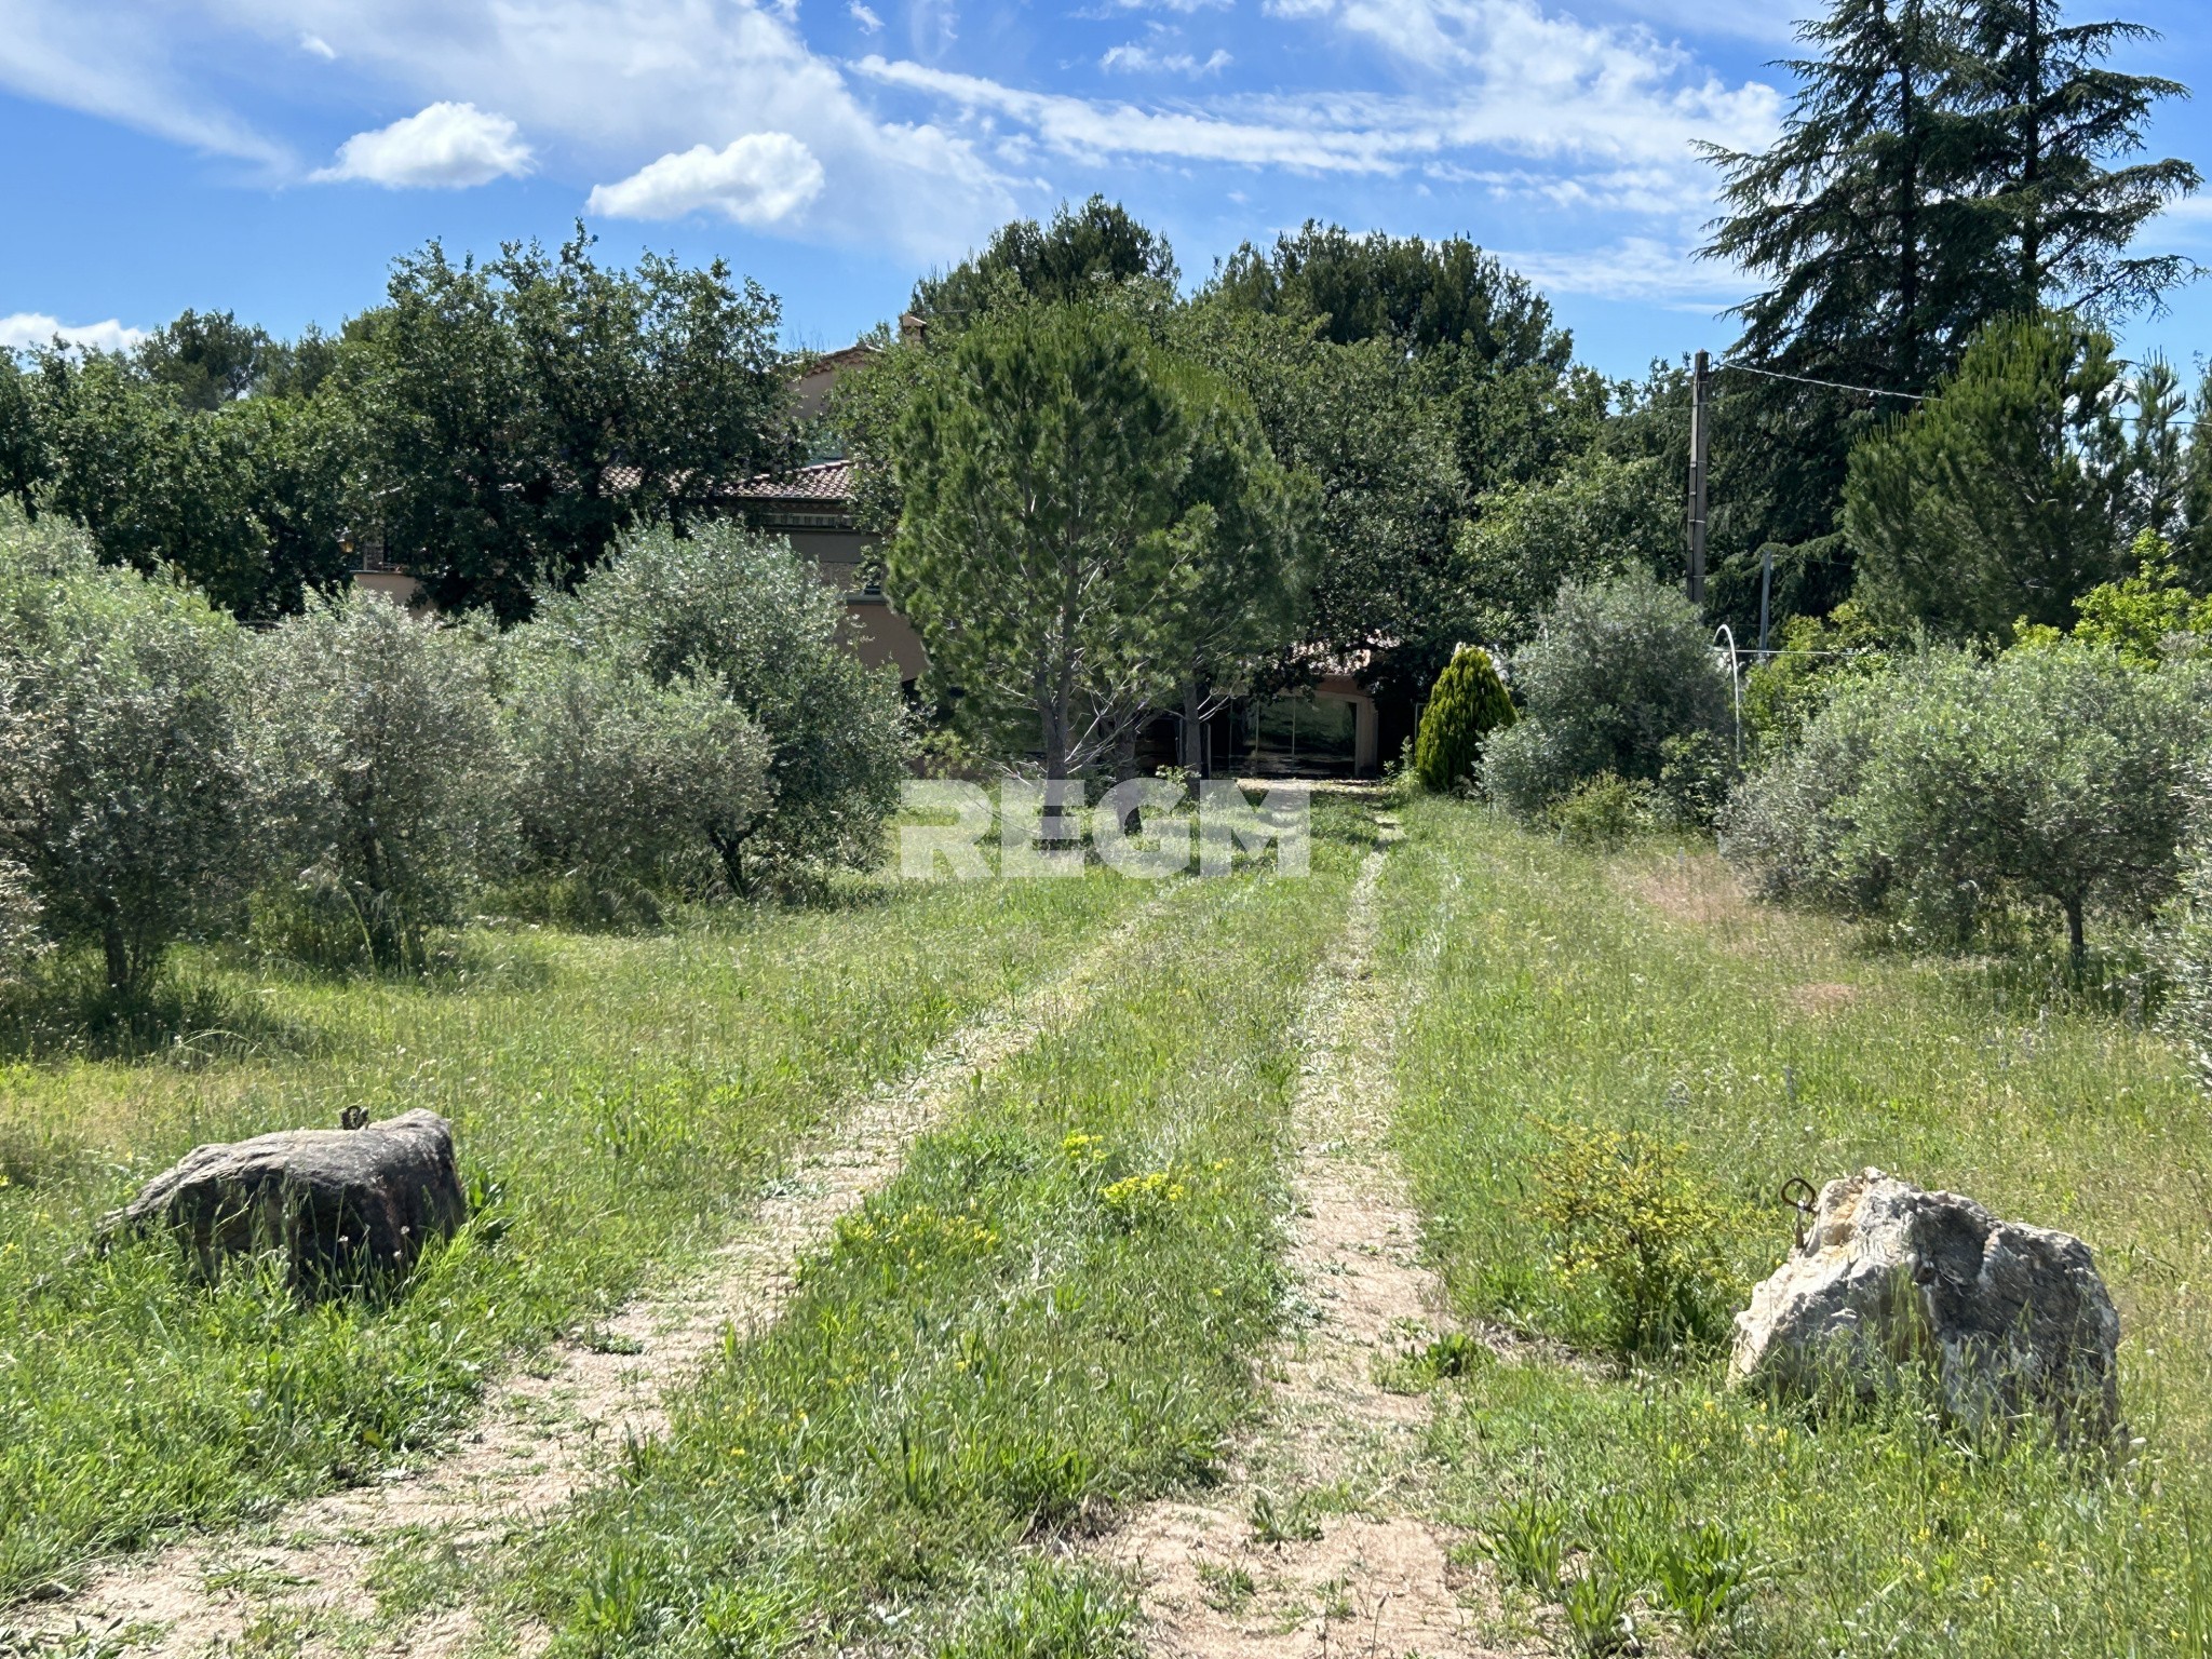
[[[1486,1540],[1469,1553],[1511,1564],[1548,1524],[1588,1551],[1531,1593],[1566,1604],[1537,1626],[1593,1650],[1610,1588],[1573,1582],[1601,1573],[1674,1646],[2212,1652],[2212,1126],[2168,1044],[1754,909],[1710,854],[1577,854],[1451,801],[1407,823],[1385,945],[1413,1004],[1398,1141],[1429,1250],[1462,1314],[1588,1356],[1537,1345],[1438,1391],[1438,1504]],[[1624,1369],[1615,1310],[1540,1214],[1537,1170],[1577,1130],[1683,1148],[1723,1305],[1787,1248],[1794,1175],[1878,1164],[2081,1234],[2139,1444],[1978,1442],[1909,1387],[1814,1418],[1728,1391],[1712,1347]]]

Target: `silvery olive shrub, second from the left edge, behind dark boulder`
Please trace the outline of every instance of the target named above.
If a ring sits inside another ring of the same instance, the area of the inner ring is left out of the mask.
[[[420,960],[507,841],[482,644],[347,593],[261,635],[252,668],[270,931],[319,962]]]

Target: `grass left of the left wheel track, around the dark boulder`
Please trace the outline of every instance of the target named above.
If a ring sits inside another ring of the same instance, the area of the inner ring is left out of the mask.
[[[438,982],[188,958],[137,1060],[0,1066],[0,1601],[270,1513],[460,1425],[487,1378],[681,1274],[792,1139],[1157,889],[856,883],[659,936],[491,929]],[[33,1029],[22,1018],[18,1035]],[[199,1141],[453,1119],[480,1210],[383,1303],[199,1290],[95,1219]]]

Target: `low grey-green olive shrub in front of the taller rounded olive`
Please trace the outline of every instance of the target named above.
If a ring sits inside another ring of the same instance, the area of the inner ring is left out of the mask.
[[[655,686],[553,650],[522,675],[507,719],[522,852],[582,880],[602,911],[617,887],[712,872],[714,845],[768,807],[768,739],[717,681]]]

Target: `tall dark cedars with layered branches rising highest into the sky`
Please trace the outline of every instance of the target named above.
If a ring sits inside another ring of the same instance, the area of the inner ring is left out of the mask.
[[[1767,288],[1734,356],[1776,374],[1924,392],[1991,321],[2037,305],[2157,303],[2179,261],[2128,259],[2181,161],[2110,168],[2181,88],[2117,75],[2132,24],[2062,27],[2057,0],[1834,0],[1801,24],[1796,106],[1765,153],[1710,148],[1728,212],[1705,254]],[[1849,591],[1838,529],[1851,445],[1902,405],[1798,380],[1723,380],[1714,597],[1747,611],[1783,544],[1781,602]]]

